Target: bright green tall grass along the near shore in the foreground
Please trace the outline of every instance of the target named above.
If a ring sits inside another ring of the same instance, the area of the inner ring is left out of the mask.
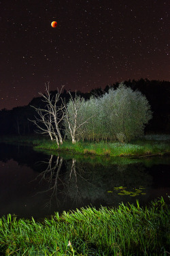
[[[43,223],[0,218],[0,255],[169,255],[169,206],[82,208]]]

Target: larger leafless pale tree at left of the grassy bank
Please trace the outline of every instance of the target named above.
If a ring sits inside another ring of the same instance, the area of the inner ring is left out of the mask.
[[[63,87],[61,87],[61,91],[62,89]],[[41,134],[48,134],[52,141],[55,139],[58,147],[60,144],[63,144],[59,124],[64,117],[64,106],[57,106],[57,103],[61,98],[61,91],[58,91],[55,96],[51,97],[48,83],[48,85],[46,85],[46,94],[39,92],[39,95],[43,98],[42,101],[46,103],[46,106],[44,109],[32,106],[39,117],[35,116],[35,120],[31,120],[35,126],[37,126],[38,132]]]

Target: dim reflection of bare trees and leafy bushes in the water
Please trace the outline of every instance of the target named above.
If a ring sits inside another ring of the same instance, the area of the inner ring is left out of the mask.
[[[146,168],[140,164],[133,165],[109,165],[107,167],[101,164],[92,165],[89,162],[80,160],[65,160],[61,156],[51,155],[48,161],[41,162],[47,165],[45,171],[42,171],[37,179],[39,182],[46,180],[49,188],[41,191],[48,193],[49,201],[46,207],[50,208],[52,200],[55,198],[58,207],[61,205],[118,205],[122,201],[133,203],[137,198],[118,194],[115,187],[126,187],[127,190],[139,189],[144,187],[145,191],[152,184],[152,177],[146,172]],[[112,191],[112,195],[108,192]],[[130,195],[130,194],[129,194]],[[135,194],[134,194],[135,195]],[[140,196],[139,194],[136,194]],[[148,195],[141,198],[146,201]],[[75,206],[76,205],[76,206]]]

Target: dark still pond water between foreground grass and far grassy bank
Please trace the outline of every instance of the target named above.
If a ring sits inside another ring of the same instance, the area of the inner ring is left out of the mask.
[[[102,158],[0,145],[0,216],[41,218],[87,205],[169,203],[169,157]]]

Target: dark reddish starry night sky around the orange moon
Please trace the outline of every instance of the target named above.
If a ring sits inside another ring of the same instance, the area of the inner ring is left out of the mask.
[[[0,10],[0,109],[29,104],[48,81],[83,92],[170,81],[169,0],[3,0]]]

